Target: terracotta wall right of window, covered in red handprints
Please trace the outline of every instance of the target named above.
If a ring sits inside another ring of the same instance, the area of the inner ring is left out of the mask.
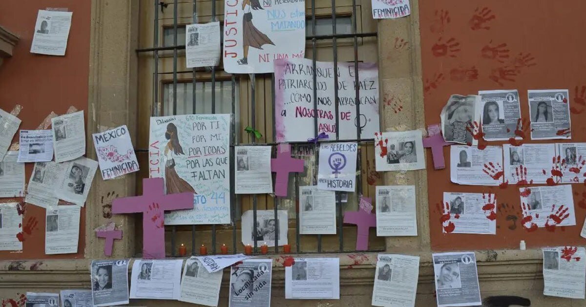
[[[440,111],[449,95],[489,89],[518,89],[522,118],[529,119],[527,89],[567,88],[573,107],[571,142],[586,142],[585,10],[586,2],[581,0],[563,4],[547,0],[420,0],[425,122],[440,122]],[[564,141],[526,140],[554,142]],[[525,240],[528,248],[586,242],[579,235],[586,215],[583,184],[573,184],[577,226],[527,232],[520,224],[522,211],[515,182],[504,189],[452,184],[449,167],[434,171],[431,154],[427,154],[432,250],[517,249],[520,240]],[[449,147],[444,147],[444,155],[449,160]],[[442,192],[496,194],[496,236],[442,234]]]

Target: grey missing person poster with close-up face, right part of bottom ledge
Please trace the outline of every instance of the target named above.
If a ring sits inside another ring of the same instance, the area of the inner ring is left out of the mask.
[[[482,305],[473,251],[433,254],[438,307]]]

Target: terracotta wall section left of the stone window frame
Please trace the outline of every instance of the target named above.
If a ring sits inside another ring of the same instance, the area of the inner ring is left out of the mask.
[[[68,8],[73,12],[64,57],[29,52],[38,10],[47,7]],[[70,106],[87,110],[90,9],[89,0],[0,1],[0,25],[21,37],[13,57],[0,66],[0,108],[10,112],[16,104],[22,105],[22,112],[18,116],[22,120],[21,129],[36,129],[51,111],[62,115]],[[87,118],[87,113],[85,115]],[[32,168],[33,163],[27,163],[26,182]],[[22,201],[22,198],[18,201]],[[77,254],[48,256],[45,255],[45,209],[26,205],[23,226],[29,227],[30,234],[24,233],[23,251],[1,251],[0,259],[83,258],[84,221],[85,210],[81,209]]]

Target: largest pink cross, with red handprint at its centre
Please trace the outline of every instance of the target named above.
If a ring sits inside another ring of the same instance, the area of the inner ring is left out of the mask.
[[[142,196],[114,199],[112,213],[142,213],[143,258],[165,258],[165,211],[193,209],[193,193],[165,195],[163,178],[144,178]]]

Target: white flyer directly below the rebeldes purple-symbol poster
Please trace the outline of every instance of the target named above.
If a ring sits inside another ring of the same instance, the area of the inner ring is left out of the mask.
[[[336,234],[336,192],[299,187],[299,233]]]

